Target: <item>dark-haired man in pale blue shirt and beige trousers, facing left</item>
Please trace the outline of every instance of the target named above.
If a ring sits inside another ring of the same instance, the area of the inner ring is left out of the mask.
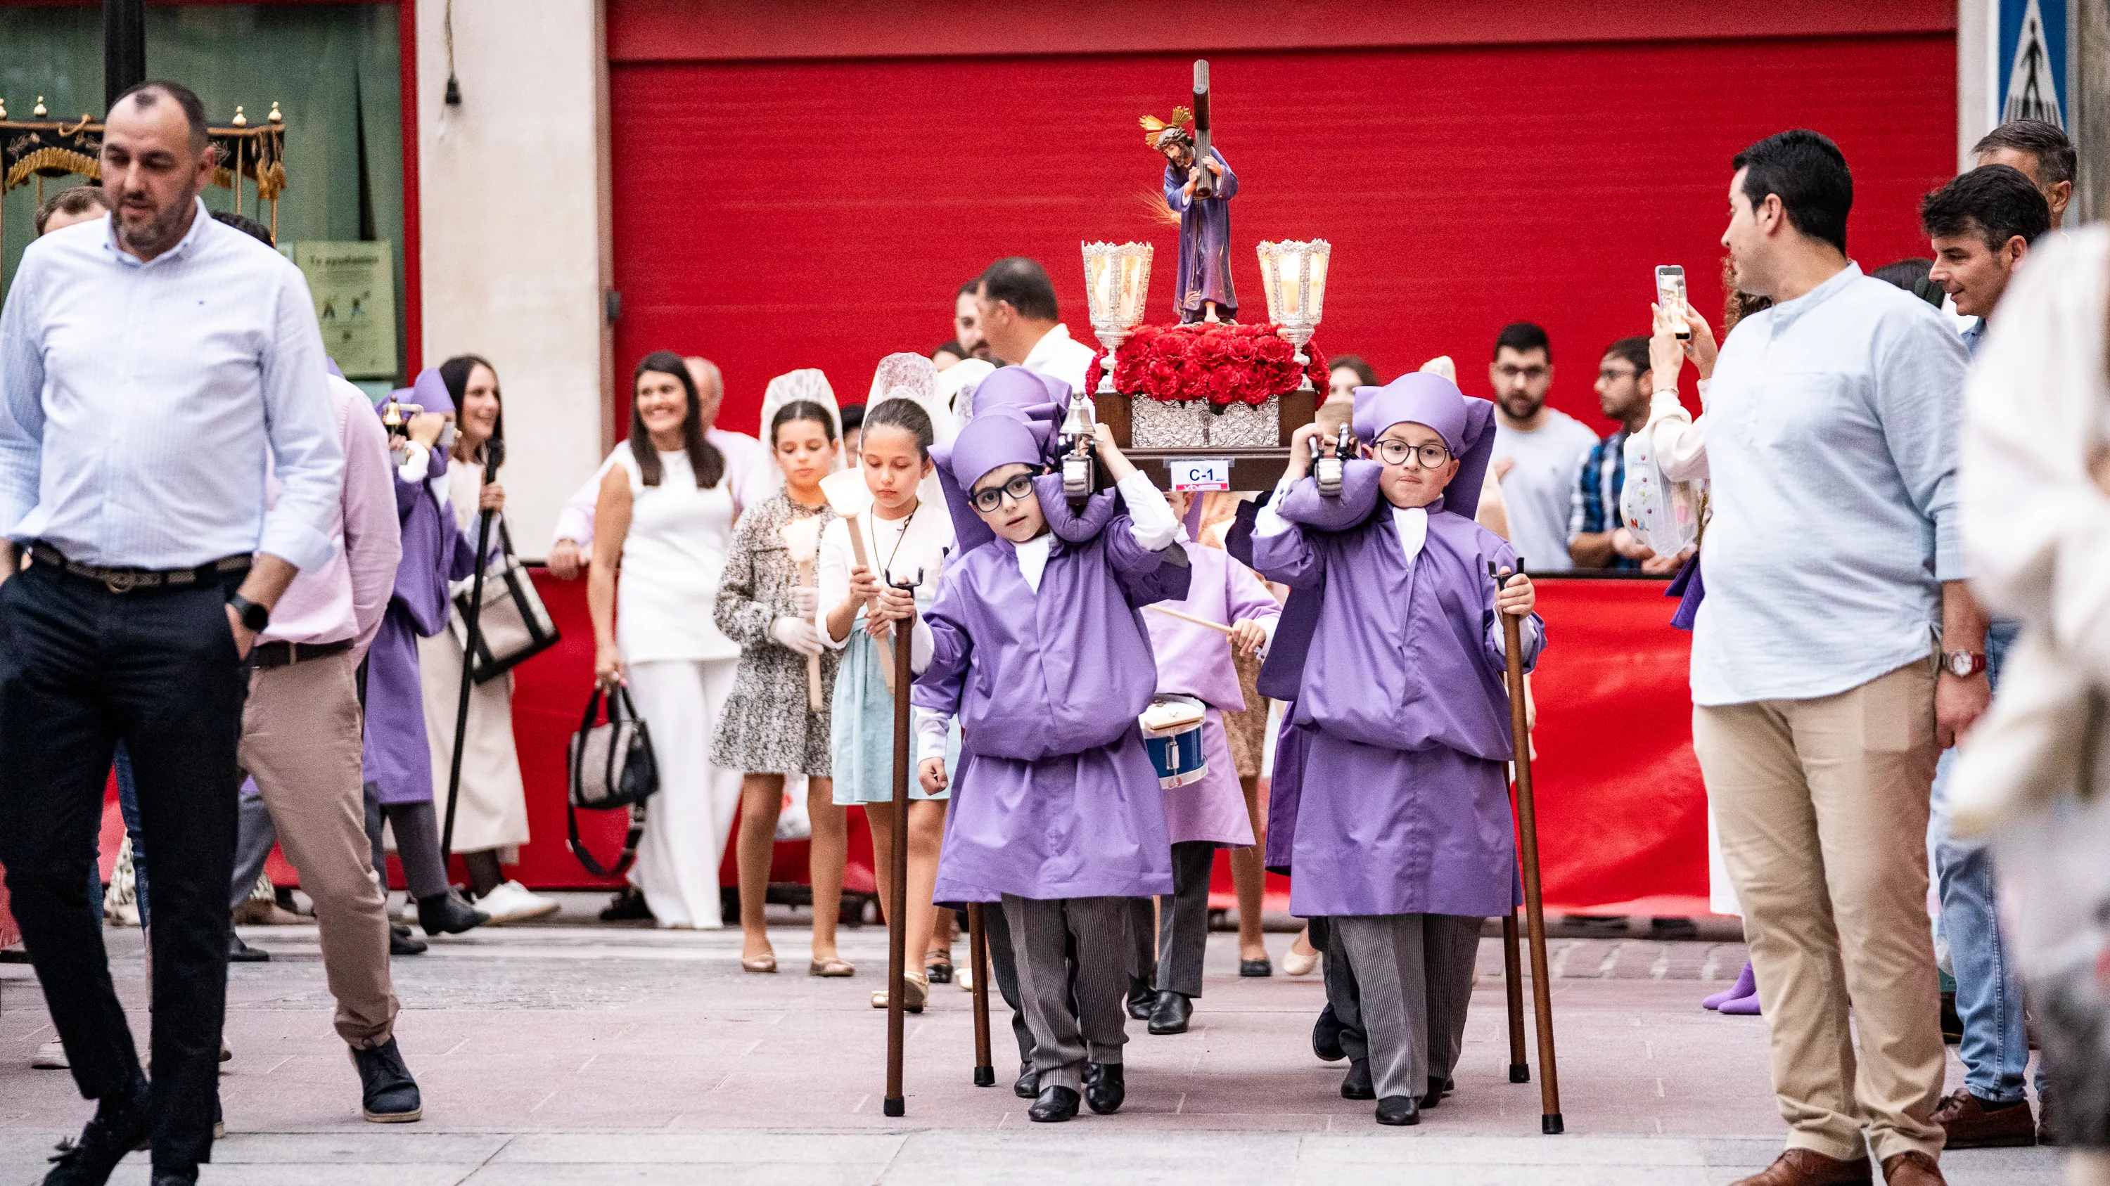
[[[1937,1186],[1941,1000],[1914,838],[1935,758],[1992,699],[1956,519],[1964,346],[1846,257],[1838,146],[1785,131],[1730,165],[1734,285],[1775,304],[1737,323],[1707,390],[1692,747],[1789,1125],[1741,1186],[1869,1182],[1869,1150],[1888,1186]]]

